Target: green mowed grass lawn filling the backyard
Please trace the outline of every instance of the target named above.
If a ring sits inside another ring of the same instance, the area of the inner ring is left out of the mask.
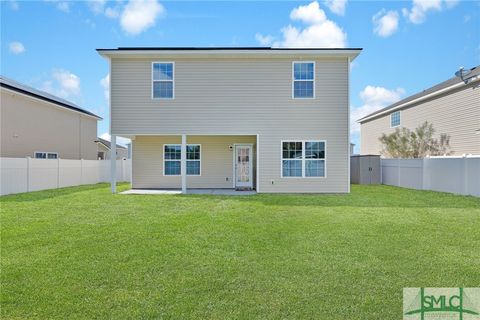
[[[0,203],[2,319],[401,319],[404,287],[480,285],[474,197],[100,184]]]

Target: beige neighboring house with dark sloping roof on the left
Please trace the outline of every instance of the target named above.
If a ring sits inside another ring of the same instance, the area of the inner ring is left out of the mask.
[[[99,116],[43,91],[0,78],[1,157],[96,159]]]

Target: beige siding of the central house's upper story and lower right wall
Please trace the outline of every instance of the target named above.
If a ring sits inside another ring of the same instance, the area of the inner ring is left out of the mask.
[[[300,60],[113,58],[112,132],[258,134],[261,192],[348,192],[348,60],[305,59],[315,60],[315,99],[292,99],[292,61]],[[152,61],[175,62],[174,100],[151,98]],[[281,178],[282,140],[326,140],[327,177]],[[134,172],[139,184],[151,179]]]

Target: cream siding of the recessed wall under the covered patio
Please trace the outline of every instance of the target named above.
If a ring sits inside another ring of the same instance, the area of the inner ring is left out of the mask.
[[[233,188],[234,144],[252,144],[255,172],[256,136],[190,136],[201,145],[200,176],[187,176],[189,188]],[[138,136],[133,142],[133,188],[180,188],[180,176],[163,175],[164,144],[181,144],[180,136]],[[255,175],[254,175],[255,177]],[[254,181],[255,183],[255,181]]]

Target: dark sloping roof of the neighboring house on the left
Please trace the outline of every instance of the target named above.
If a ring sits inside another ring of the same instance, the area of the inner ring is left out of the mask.
[[[90,111],[87,111],[87,110],[77,106],[76,104],[70,102],[70,101],[67,101],[65,99],[56,97],[56,96],[51,95],[47,92],[40,91],[40,90],[37,90],[35,88],[29,87],[27,85],[24,85],[24,84],[19,83],[15,80],[6,78],[4,76],[0,76],[0,86],[2,88],[10,89],[10,90],[25,94],[27,96],[31,96],[31,97],[38,98],[38,99],[41,99],[41,100],[44,100],[44,101],[47,101],[47,102],[54,103],[56,105],[59,105],[61,107],[64,107],[64,108],[67,108],[67,109],[70,109],[70,110],[73,110],[73,111],[81,112],[81,113],[87,114],[89,116],[92,116],[92,117],[95,117],[95,118],[98,118],[98,119],[102,119],[101,117],[97,116],[96,114],[94,114]]]

